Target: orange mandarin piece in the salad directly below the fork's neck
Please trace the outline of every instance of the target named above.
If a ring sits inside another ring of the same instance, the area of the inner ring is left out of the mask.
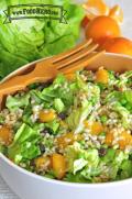
[[[41,122],[51,122],[56,118],[55,111],[53,110],[42,110],[40,111],[38,119]]]

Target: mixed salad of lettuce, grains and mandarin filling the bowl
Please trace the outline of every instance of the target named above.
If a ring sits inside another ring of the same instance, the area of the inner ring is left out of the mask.
[[[132,177],[132,70],[59,74],[8,96],[0,151],[32,173],[72,183]]]

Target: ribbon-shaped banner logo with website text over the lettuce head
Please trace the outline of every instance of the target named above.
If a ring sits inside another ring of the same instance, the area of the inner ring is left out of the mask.
[[[6,14],[6,23],[11,23],[14,20],[24,19],[47,19],[57,20],[59,23],[67,24],[66,13],[62,5],[52,4],[16,4],[10,5],[3,11]]]

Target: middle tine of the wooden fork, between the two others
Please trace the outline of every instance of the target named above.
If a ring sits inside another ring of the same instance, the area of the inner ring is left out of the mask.
[[[90,53],[92,53],[95,49],[98,48],[98,44],[91,44],[89,45],[87,48],[85,48],[84,51],[79,52],[77,55],[73,56],[72,58],[69,57],[67,60],[63,60],[62,63],[58,63],[57,65],[55,65],[55,67],[57,69],[63,69],[65,67],[68,67],[69,65],[79,62],[80,59],[85,58],[86,56],[88,56]]]

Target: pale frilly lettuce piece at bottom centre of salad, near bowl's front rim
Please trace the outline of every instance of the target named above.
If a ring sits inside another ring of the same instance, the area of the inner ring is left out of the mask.
[[[66,157],[70,173],[76,175],[77,172],[81,172],[81,176],[87,179],[90,179],[90,177],[86,176],[92,176],[91,173],[96,170],[99,164],[98,151],[95,148],[82,150],[79,143],[75,143],[67,148]]]

